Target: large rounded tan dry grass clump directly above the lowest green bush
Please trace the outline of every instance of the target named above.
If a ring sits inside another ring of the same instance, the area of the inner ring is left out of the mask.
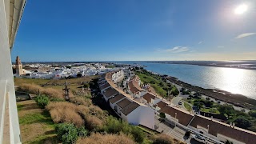
[[[70,102],[51,102],[46,109],[50,111],[50,116],[55,123],[71,122],[75,126],[84,126],[84,120],[78,114],[78,106]]]

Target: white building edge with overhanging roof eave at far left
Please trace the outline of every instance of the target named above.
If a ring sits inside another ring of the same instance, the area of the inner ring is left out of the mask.
[[[26,0],[0,0],[0,144],[21,143],[10,50]]]

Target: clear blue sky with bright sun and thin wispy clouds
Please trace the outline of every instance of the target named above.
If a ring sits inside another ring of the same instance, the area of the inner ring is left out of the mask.
[[[28,0],[11,55],[22,62],[256,60],[255,23],[254,0]]]

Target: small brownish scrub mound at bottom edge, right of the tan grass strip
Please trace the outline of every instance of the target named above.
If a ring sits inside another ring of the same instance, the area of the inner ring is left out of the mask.
[[[154,144],[162,143],[162,144],[183,144],[183,142],[178,141],[177,139],[170,138],[170,136],[166,134],[157,134],[154,136]],[[185,144],[185,143],[184,143]]]

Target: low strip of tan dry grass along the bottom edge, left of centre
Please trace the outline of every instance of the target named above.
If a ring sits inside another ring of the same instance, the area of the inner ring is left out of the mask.
[[[125,134],[91,134],[88,138],[79,138],[77,143],[90,144],[134,144],[135,142]]]

